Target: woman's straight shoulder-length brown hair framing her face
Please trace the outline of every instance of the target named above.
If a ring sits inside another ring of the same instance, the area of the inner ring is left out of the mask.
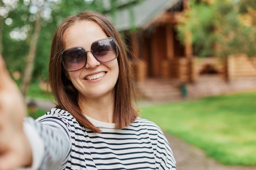
[[[132,123],[139,114],[139,110],[133,105],[135,93],[132,84],[131,61],[128,59],[128,51],[124,41],[108,18],[101,13],[85,11],[78,15],[66,18],[56,30],[51,46],[49,59],[49,83],[56,99],[56,107],[70,112],[79,124],[90,128],[93,132],[101,132],[88,119],[85,118],[78,105],[78,91],[72,82],[67,79],[65,69],[61,63],[61,51],[64,50],[65,42],[63,33],[74,23],[81,20],[89,20],[97,23],[108,37],[115,39],[119,56],[119,77],[115,85],[115,128],[124,128]]]

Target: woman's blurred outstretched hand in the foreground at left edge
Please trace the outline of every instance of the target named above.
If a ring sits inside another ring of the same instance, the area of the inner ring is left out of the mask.
[[[0,55],[0,170],[31,165],[31,148],[22,128],[24,101]]]

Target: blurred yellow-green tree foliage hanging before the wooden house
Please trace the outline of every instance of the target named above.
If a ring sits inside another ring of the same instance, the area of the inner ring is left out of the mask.
[[[256,27],[240,20],[240,12],[246,12],[248,4],[256,8],[252,0],[240,0],[239,4],[229,0],[214,0],[212,4],[192,1],[191,9],[184,11],[185,18],[177,26],[178,38],[183,42],[190,32],[194,53],[199,56],[227,57],[239,53],[254,56]]]

